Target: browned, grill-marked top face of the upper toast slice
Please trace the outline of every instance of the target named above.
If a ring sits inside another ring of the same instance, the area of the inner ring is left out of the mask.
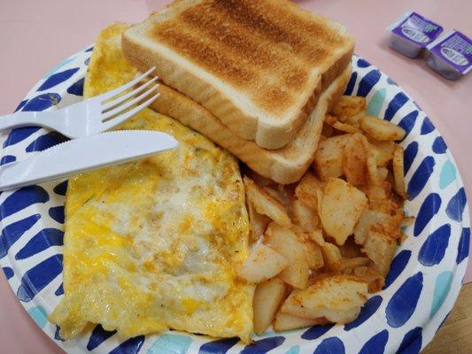
[[[266,0],[203,0],[156,23],[149,35],[243,88],[253,104],[275,116],[315,89],[317,65],[321,72],[328,68],[337,47],[349,41],[324,19]]]

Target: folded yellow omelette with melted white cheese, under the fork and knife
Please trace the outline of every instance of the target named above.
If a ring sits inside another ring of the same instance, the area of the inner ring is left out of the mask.
[[[98,36],[85,97],[137,74],[121,53],[126,28]],[[120,129],[163,131],[180,145],[69,180],[65,294],[50,320],[65,339],[96,323],[123,337],[173,328],[248,342],[254,287],[236,277],[249,253],[236,158],[151,109]]]

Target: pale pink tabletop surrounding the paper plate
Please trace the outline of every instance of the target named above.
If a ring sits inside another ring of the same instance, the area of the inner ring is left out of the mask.
[[[113,20],[138,22],[166,1],[23,0],[0,1],[0,114],[12,112],[43,73],[94,42]],[[446,81],[421,59],[387,48],[385,27],[406,10],[436,19],[472,35],[471,1],[298,1],[307,9],[343,23],[356,38],[356,53],[377,65],[406,89],[444,135],[453,151],[468,196],[472,196],[472,74]],[[469,264],[466,282],[472,281]],[[0,275],[0,352],[60,353],[35,326]]]

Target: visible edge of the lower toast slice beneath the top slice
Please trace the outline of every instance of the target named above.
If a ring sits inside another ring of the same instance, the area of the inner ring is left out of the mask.
[[[159,99],[151,104],[151,108],[206,135],[260,175],[278,183],[290,184],[299,181],[313,162],[324,117],[343,95],[351,72],[352,67],[348,65],[329,88],[321,93],[315,110],[295,138],[278,150],[261,148],[255,142],[235,135],[221,122],[221,119],[205,107],[166,85],[159,86]]]

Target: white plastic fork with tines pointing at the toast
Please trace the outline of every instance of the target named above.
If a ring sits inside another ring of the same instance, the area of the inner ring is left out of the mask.
[[[156,90],[159,84],[152,85],[158,80],[158,77],[154,77],[130,92],[120,95],[133,88],[154,70],[155,67],[152,67],[146,73],[137,76],[118,89],[113,89],[57,111],[7,114],[0,117],[0,132],[14,127],[49,127],[71,139],[104,132],[131,118],[158,98],[159,93],[156,93]],[[152,94],[155,95],[151,96]],[[144,99],[146,100],[143,101]]]

